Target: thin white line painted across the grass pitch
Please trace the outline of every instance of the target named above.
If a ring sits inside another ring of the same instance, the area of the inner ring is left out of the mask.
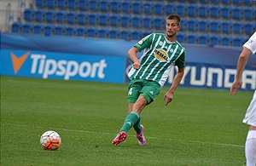
[[[40,127],[40,126],[27,126],[27,125],[24,125],[24,124],[1,123],[2,127],[4,125],[6,125],[6,126],[16,126],[16,127],[26,127],[26,128],[35,128],[35,129],[44,129],[43,127]],[[79,130],[79,129],[61,129],[61,128],[49,128],[49,129],[69,131],[69,132],[99,134],[99,135],[116,135],[116,133],[113,134],[113,133],[107,133],[107,132],[95,132],[95,131],[87,131],[87,130]],[[242,147],[242,148],[245,147],[245,146],[234,145],[234,144],[223,144],[223,143],[204,142],[204,141],[195,141],[195,140],[177,140],[177,139],[172,139],[172,138],[159,138],[159,137],[151,137],[151,136],[147,136],[146,138],[147,139],[152,139],[152,140],[175,140],[175,141],[179,141],[179,142],[210,144],[210,145],[216,145],[216,146],[233,146],[233,147]]]

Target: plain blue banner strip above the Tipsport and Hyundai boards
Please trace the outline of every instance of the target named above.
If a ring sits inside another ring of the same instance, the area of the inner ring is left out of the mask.
[[[1,33],[1,49],[19,49],[57,52],[65,54],[90,54],[100,56],[123,56],[138,41],[127,42],[111,39],[79,37],[39,37]],[[236,49],[211,48],[183,44],[187,62],[202,64],[236,65],[242,46]],[[138,56],[142,53],[138,53]],[[247,66],[256,66],[256,54],[250,57]]]

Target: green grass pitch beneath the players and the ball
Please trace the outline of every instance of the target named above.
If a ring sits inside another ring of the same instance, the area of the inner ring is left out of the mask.
[[[127,115],[127,84],[1,77],[1,165],[245,164],[252,92],[178,88],[165,106],[164,87],[143,110],[146,146],[133,129],[112,140]],[[40,135],[55,130],[61,147],[45,151]]]

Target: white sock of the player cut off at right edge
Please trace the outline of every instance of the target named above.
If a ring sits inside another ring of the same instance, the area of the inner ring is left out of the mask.
[[[249,130],[245,146],[247,166],[256,165],[256,130]]]

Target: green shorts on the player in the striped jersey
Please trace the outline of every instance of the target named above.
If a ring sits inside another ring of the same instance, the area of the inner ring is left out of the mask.
[[[128,103],[135,103],[143,95],[150,104],[160,93],[160,84],[154,81],[133,79],[128,86]]]

